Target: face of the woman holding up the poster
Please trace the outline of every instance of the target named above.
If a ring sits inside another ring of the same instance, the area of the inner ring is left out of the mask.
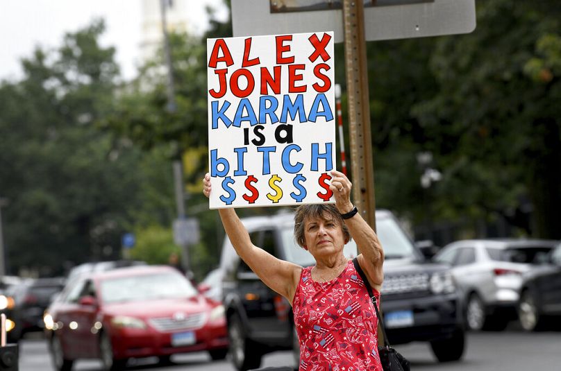
[[[305,248],[314,257],[338,254],[345,245],[343,229],[328,214],[322,218],[307,218],[304,222]]]

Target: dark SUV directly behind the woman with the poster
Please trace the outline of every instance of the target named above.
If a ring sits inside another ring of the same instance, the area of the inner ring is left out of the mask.
[[[251,241],[279,259],[301,266],[315,264],[312,255],[294,241],[292,213],[244,218],[242,222]],[[376,212],[376,228],[385,252],[381,303],[388,340],[392,344],[428,341],[439,361],[460,359],[465,338],[462,303],[449,268],[426,261],[391,212]],[[347,243],[344,252],[355,257],[355,243]],[[292,349],[297,360],[299,347],[290,304],[237,257],[227,237],[221,269],[222,300],[237,370],[258,368],[263,354],[276,350]]]

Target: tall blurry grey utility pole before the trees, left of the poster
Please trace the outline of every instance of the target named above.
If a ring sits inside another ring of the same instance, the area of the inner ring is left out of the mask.
[[[173,63],[171,61],[171,47],[169,45],[169,37],[167,34],[167,19],[166,19],[166,9],[169,0],[160,0],[160,10],[162,15],[162,35],[164,41],[164,54],[165,62],[167,67],[167,106],[166,110],[169,113],[175,113],[177,110],[177,105],[175,101],[175,82],[174,82],[174,69]],[[185,220],[185,191],[183,186],[183,161],[181,159],[181,152],[178,153],[180,156],[178,159],[174,160],[173,170],[174,170],[174,188],[176,196],[176,207],[177,207],[177,218],[179,221]],[[181,263],[185,268],[186,272],[190,272],[190,259],[189,259],[189,247],[187,244],[181,246]]]

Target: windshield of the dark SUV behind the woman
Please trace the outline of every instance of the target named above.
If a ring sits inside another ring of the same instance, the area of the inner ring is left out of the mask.
[[[383,218],[376,221],[378,239],[384,248],[386,259],[400,259],[412,257],[415,254],[410,239],[403,233],[399,225],[392,218]],[[312,266],[315,264],[314,257],[310,252],[301,248],[294,241],[294,230],[287,226],[282,230],[283,246],[287,247],[286,257],[288,261],[300,266]],[[344,247],[344,254],[349,259],[356,257],[356,243],[351,240]]]

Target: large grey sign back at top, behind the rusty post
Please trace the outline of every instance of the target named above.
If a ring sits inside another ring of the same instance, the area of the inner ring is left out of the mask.
[[[343,13],[340,6],[336,8],[341,1],[311,2],[333,3],[333,6],[308,11],[310,0],[292,0],[284,1],[290,7],[281,12],[283,8],[274,3],[283,1],[232,0],[233,35],[334,31],[335,42],[343,42]],[[365,5],[367,41],[470,33],[476,28],[475,0],[385,0],[383,5]]]

